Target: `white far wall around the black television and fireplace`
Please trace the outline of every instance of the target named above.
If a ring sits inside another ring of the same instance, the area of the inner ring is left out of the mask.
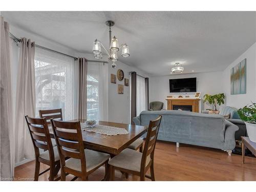
[[[203,98],[204,94],[218,94],[223,93],[223,75],[222,72],[209,72],[209,73],[194,73],[194,74],[180,74],[180,75],[167,75],[151,77],[150,82],[150,102],[161,101],[164,103],[164,109],[167,109],[167,101],[165,100],[168,95],[185,95],[185,93],[170,93],[169,92],[169,79],[176,78],[191,78],[197,77],[197,92],[201,92],[200,97]],[[195,93],[187,93],[187,95],[195,95]],[[202,101],[202,100],[201,100]],[[201,110],[208,109],[209,106],[201,103]]]

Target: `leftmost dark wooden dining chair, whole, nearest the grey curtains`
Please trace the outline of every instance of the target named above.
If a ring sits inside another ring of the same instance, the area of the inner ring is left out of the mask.
[[[25,116],[29,133],[34,145],[35,150],[35,174],[34,180],[38,181],[38,177],[50,170],[49,180],[53,181],[60,169],[60,161],[58,155],[57,146],[53,147],[50,137],[46,118],[32,118]],[[39,153],[39,149],[45,150]],[[44,163],[50,166],[50,168],[39,173],[40,163]],[[59,180],[57,178],[55,180]]]

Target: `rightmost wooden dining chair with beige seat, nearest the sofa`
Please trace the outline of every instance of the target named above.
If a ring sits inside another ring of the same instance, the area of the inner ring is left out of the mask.
[[[161,118],[162,116],[160,115],[156,120],[150,121],[143,153],[126,148],[109,161],[111,180],[114,180],[115,169],[117,169],[127,174],[140,176],[141,181],[144,181],[145,177],[155,181],[154,152]],[[146,175],[149,168],[151,176]]]

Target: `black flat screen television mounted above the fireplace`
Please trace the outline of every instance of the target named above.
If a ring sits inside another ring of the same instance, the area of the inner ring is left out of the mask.
[[[169,79],[170,93],[197,92],[197,78]]]

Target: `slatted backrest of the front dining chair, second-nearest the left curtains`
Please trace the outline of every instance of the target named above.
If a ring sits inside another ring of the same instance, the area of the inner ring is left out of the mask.
[[[67,122],[51,119],[51,123],[61,167],[65,167],[65,158],[80,159],[81,172],[86,173],[86,156],[84,154],[80,121]]]

